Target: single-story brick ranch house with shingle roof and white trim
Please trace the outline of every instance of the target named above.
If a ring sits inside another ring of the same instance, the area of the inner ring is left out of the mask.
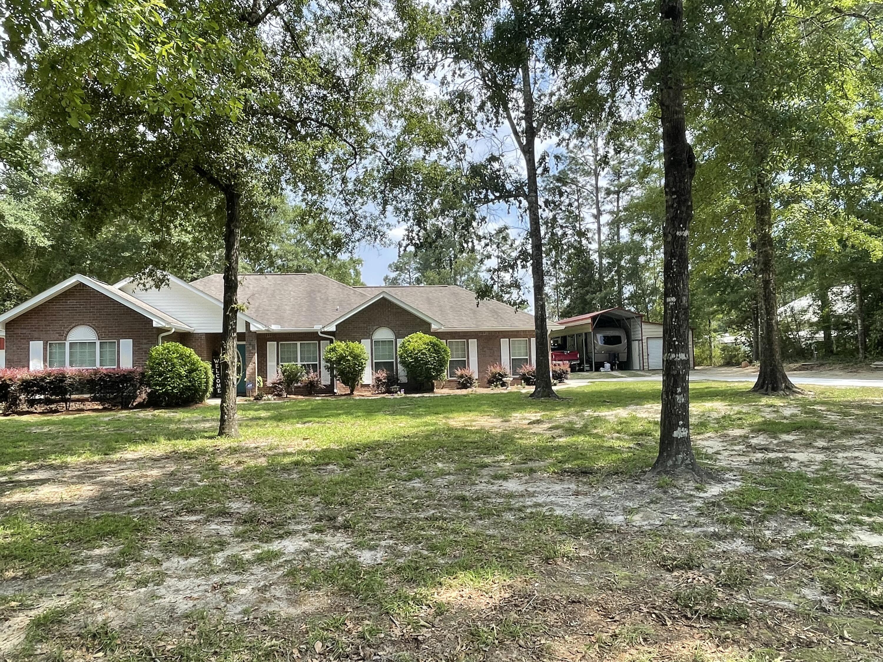
[[[5,364],[10,368],[139,367],[161,342],[181,342],[206,361],[221,351],[223,278],[185,282],[167,275],[159,289],[132,279],[114,285],[84,275],[64,282],[0,315]],[[242,275],[238,317],[238,392],[275,379],[277,366],[299,363],[332,383],[322,357],[336,340],[361,342],[369,361],[363,377],[384,369],[407,380],[398,343],[417,331],[448,343],[448,375],[471,368],[479,380],[487,366],[514,373],[534,363],[533,316],[498,301],[479,301],[452,285],[351,287],[318,274]],[[555,328],[555,325],[550,325]]]

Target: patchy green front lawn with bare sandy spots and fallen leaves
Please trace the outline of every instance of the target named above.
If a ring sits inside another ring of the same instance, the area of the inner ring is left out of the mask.
[[[659,385],[0,420],[0,659],[872,660],[883,390]]]

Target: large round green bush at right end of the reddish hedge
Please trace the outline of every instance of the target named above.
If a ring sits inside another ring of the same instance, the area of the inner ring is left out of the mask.
[[[179,342],[150,348],[144,368],[147,403],[155,407],[181,407],[203,402],[212,387],[212,368],[196,352]]]

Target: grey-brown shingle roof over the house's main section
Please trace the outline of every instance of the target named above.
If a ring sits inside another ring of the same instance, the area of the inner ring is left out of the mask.
[[[191,284],[223,298],[221,274]],[[438,320],[445,330],[533,327],[531,314],[499,301],[476,301],[473,292],[455,285],[353,288],[320,274],[246,274],[240,276],[238,298],[248,305],[249,315],[268,326],[306,329],[324,326],[383,291]]]

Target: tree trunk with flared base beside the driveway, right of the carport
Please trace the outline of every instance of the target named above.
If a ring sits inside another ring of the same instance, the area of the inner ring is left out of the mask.
[[[795,391],[781,362],[779,342],[779,304],[775,294],[775,259],[773,248],[773,204],[770,178],[766,170],[765,150],[755,147],[758,155],[754,184],[754,220],[758,269],[758,304],[760,308],[760,372],[752,390],[767,395]]]

